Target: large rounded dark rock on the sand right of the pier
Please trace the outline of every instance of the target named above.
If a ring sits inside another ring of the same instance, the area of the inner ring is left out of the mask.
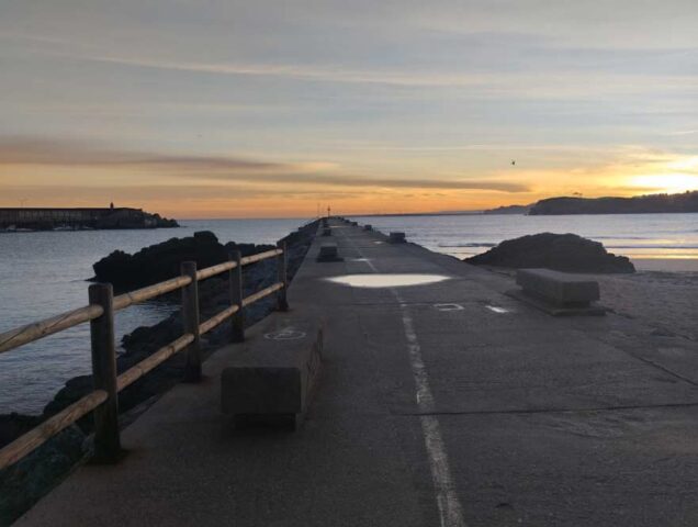
[[[598,242],[576,234],[541,233],[507,239],[464,261],[515,269],[547,268],[565,272],[634,272],[624,256],[608,253]]]

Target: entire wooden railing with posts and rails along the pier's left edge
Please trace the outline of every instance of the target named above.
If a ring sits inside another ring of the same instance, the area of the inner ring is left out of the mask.
[[[244,298],[243,267],[267,258],[277,258],[277,282]],[[230,255],[229,261],[205,269],[198,270],[195,261],[182,262],[181,276],[119,296],[113,295],[110,283],[94,283],[89,287],[89,305],[0,334],[0,354],[3,354],[89,322],[94,384],[92,392],[2,448],[0,470],[21,460],[90,412],[93,412],[94,416],[95,460],[116,461],[122,452],[119,431],[119,392],[182,350],[187,352],[184,380],[198,382],[201,379],[201,335],[230,318],[233,341],[243,341],[245,339],[244,307],[270,294],[277,294],[278,310],[288,310],[286,264],[286,247],[283,242],[280,242],[275,249],[244,258],[239,251],[235,251]],[[200,322],[199,282],[226,271],[230,305],[207,321]],[[184,334],[117,375],[114,313],[178,289],[182,291],[181,312]]]

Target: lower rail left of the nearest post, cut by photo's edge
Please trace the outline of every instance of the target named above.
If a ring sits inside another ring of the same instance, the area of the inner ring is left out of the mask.
[[[7,445],[0,450],[0,470],[18,462],[60,430],[69,427],[80,417],[97,408],[105,400],[106,392],[104,390],[95,390]]]

